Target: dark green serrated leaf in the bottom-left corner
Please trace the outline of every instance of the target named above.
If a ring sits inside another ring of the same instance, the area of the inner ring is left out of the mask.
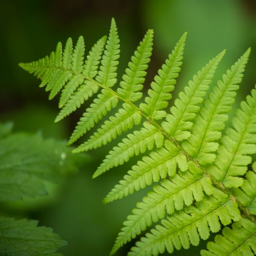
[[[56,251],[67,241],[52,233],[51,228],[37,225],[38,221],[0,216],[1,255],[63,255]]]

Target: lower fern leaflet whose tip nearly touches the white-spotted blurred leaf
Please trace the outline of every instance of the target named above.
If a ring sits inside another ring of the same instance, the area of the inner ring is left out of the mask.
[[[106,120],[104,124],[83,144],[74,150],[74,152],[88,151],[93,148],[98,148],[106,145],[111,140],[116,139],[117,135],[128,131],[133,125],[138,125],[141,122],[141,115],[134,108],[131,108],[127,103],[123,104],[118,112]]]

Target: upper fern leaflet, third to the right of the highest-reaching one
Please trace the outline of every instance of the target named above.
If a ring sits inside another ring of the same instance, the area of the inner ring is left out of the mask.
[[[166,121],[162,122],[165,131],[176,140],[189,138],[189,130],[192,128],[191,121],[200,109],[198,105],[203,101],[224,53],[225,51],[218,54],[201,71],[198,71],[197,75],[193,76],[193,81],[190,80],[184,91],[179,93],[179,98],[175,100],[174,106],[170,109],[171,113],[167,114]]]

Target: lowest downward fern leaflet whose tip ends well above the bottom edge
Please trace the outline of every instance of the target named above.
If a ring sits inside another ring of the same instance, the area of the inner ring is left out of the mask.
[[[153,182],[158,182],[160,178],[164,179],[168,175],[173,177],[177,169],[177,156],[179,151],[169,140],[166,140],[164,147],[157,151],[152,151],[148,156],[144,156],[142,160],[138,161],[132,169],[128,171],[128,174],[124,176],[123,180],[119,181],[119,184],[114,186],[111,192],[108,193],[104,199],[104,203],[109,203],[116,199],[121,199],[124,196],[134,193],[145,186],[151,185]],[[183,163],[184,164],[184,163]],[[201,170],[196,168],[195,165],[189,163],[189,169],[193,173],[201,174]],[[189,174],[185,173],[184,176],[176,175],[172,178],[172,182],[175,183],[175,179],[189,182]],[[186,181],[185,181],[186,180]]]

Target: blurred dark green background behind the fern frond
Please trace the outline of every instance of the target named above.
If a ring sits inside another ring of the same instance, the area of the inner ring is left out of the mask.
[[[47,93],[38,88],[39,81],[17,64],[48,55],[58,41],[64,43],[68,37],[76,41],[83,35],[88,51],[98,38],[108,34],[111,17],[116,19],[121,41],[119,78],[144,33],[151,28],[154,50],[145,90],[184,32],[188,32],[184,61],[173,98],[223,49],[227,53],[216,79],[252,47],[236,105],[255,84],[255,0],[0,0],[0,121],[13,121],[16,131],[41,131],[44,137],[67,140],[90,102],[80,112],[53,123],[58,99],[48,101]],[[122,221],[146,194],[142,190],[122,201],[102,205],[105,195],[137,160],[92,180],[96,166],[113,145],[89,152],[90,165],[82,166],[78,174],[58,187],[58,192],[52,191],[49,200],[6,204],[6,211],[39,219],[40,225],[52,227],[70,242],[61,250],[66,256],[108,255]],[[126,255],[133,244],[127,244],[116,255]],[[199,254],[199,250],[192,247],[189,255]],[[188,251],[173,255],[184,253]]]

